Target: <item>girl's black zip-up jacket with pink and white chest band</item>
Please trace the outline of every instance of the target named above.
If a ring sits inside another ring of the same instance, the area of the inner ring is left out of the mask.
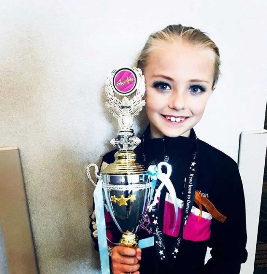
[[[165,155],[169,156],[169,163],[172,165],[170,179],[177,198],[180,200],[183,200],[184,180],[195,146],[195,136],[192,128],[189,138],[164,136],[151,139],[150,126],[148,126],[141,137],[141,144],[136,148],[138,160],[143,163],[145,160],[148,165],[157,164],[164,160]],[[113,150],[104,155],[102,163],[113,163],[115,152],[116,150]],[[140,273],[237,274],[240,272],[241,263],[247,260],[244,192],[236,162],[225,153],[198,139],[198,163],[196,189],[227,217],[226,221],[222,223],[211,217],[211,221],[203,219],[203,223],[206,222],[204,226],[193,222],[187,223],[186,226],[191,226],[190,230],[194,232],[187,232],[187,237],[184,234],[186,239],[182,240],[177,258],[169,265],[160,261],[154,246],[144,248]],[[160,195],[159,206],[162,220],[166,215],[166,193],[164,187]],[[198,210],[196,203],[194,207]],[[207,212],[205,207],[203,211]],[[91,220],[90,228],[93,232],[92,222],[93,220]],[[164,219],[164,222],[168,220]],[[112,231],[114,235],[118,235],[115,227]],[[138,234],[140,238],[151,236],[145,229],[140,229]],[[92,238],[96,243],[95,248],[98,249],[97,240],[93,235]],[[167,250],[170,250],[175,237],[165,235],[165,239]],[[207,246],[212,248],[212,258],[204,265]]]

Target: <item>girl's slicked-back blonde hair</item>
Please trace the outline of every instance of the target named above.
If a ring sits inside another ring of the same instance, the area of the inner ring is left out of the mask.
[[[149,53],[155,49],[156,42],[187,42],[193,45],[198,45],[205,49],[211,49],[214,51],[214,75],[212,88],[217,83],[220,75],[220,52],[216,44],[206,35],[205,32],[193,27],[185,27],[179,25],[169,25],[166,28],[150,34],[145,43],[137,61],[136,66],[141,68],[144,72],[144,68],[147,66],[147,59]]]

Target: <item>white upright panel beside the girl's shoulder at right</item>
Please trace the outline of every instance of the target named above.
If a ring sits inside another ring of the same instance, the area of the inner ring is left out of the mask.
[[[246,197],[247,251],[246,264],[241,273],[253,273],[260,202],[263,185],[263,173],[266,158],[267,130],[251,130],[241,133],[238,168],[243,181]]]

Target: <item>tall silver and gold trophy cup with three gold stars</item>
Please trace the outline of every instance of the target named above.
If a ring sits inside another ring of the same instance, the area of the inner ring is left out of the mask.
[[[104,168],[100,176],[95,164],[88,165],[87,175],[96,186],[90,176],[90,168],[94,167],[96,178],[102,179],[104,206],[123,233],[120,245],[135,248],[138,245],[135,233],[153,191],[151,176],[143,165],[137,163],[134,152],[141,140],[134,136],[134,130],[131,129],[134,118],[145,105],[142,100],[145,79],[141,69],[113,70],[106,80],[105,92],[106,107],[117,118],[120,126],[117,137],[110,141],[118,151],[114,163]]]

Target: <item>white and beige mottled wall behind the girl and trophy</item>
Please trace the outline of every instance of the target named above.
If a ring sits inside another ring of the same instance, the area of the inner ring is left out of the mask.
[[[99,271],[85,167],[100,162],[117,130],[101,90],[108,72],[131,66],[148,35],[169,24],[207,32],[222,76],[195,130],[237,161],[241,131],[264,124],[266,8],[264,1],[0,2],[0,146],[20,149],[41,273]],[[146,121],[143,112],[137,132]]]

